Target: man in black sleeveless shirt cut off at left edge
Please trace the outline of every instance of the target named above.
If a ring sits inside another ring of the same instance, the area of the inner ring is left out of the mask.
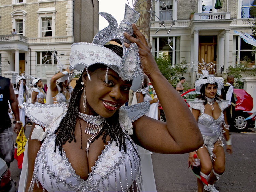
[[[16,123],[14,130],[8,115],[8,100],[10,102]],[[0,157],[6,162],[8,168],[14,157],[13,131],[18,134],[21,128],[19,108],[10,79],[0,76]]]

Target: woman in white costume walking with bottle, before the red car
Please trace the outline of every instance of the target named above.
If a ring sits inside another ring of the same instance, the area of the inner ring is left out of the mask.
[[[200,175],[207,180],[208,185],[203,186],[203,182],[198,178],[198,191],[203,191],[204,188],[207,191],[218,192],[213,184],[225,171],[223,136],[227,141],[227,151],[232,152],[225,112],[228,101],[220,99],[217,95],[217,90],[223,88],[222,80],[215,79],[206,70],[202,72],[203,75],[195,82],[195,89],[201,94],[195,101],[189,102],[189,105],[203,135],[204,144],[197,151],[189,153],[188,161],[191,164],[195,162],[195,154],[200,159]]]

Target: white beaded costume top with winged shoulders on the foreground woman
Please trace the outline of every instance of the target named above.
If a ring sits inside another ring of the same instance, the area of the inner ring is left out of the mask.
[[[119,151],[115,142],[108,142],[87,180],[76,175],[63,151],[54,152],[55,130],[66,114],[65,103],[34,105],[25,103],[25,112],[36,127],[31,139],[44,142],[37,153],[31,185],[39,181],[47,191],[127,191],[130,186],[143,191],[141,165],[137,148],[128,135],[132,134],[132,123],[143,116],[149,108],[148,102],[120,108],[119,122],[127,134],[126,152]],[[43,132],[42,127],[46,129]],[[42,135],[46,135],[42,137]],[[58,149],[58,146],[57,146]]]

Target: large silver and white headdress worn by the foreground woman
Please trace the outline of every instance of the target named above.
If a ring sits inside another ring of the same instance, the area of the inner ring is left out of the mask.
[[[129,48],[124,46],[124,42],[128,40],[123,33],[127,32],[133,34],[131,24],[135,23],[140,14],[131,9],[127,4],[125,5],[124,20],[118,26],[116,19],[108,13],[99,13],[109,22],[109,26],[99,31],[92,43],[74,43],[71,45],[70,53],[70,75],[77,71],[82,71],[84,68],[88,69],[95,63],[101,63],[111,68],[122,78],[122,80],[132,80],[132,90],[138,90],[143,84],[144,73],[140,67],[140,57],[136,43],[131,44]],[[123,47],[122,58],[104,45],[111,40],[118,39]],[[106,73],[107,73],[106,72]],[[90,79],[90,76],[88,75]],[[107,80],[107,77],[106,77]]]

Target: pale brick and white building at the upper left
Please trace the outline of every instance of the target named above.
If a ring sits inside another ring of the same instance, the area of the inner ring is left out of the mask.
[[[59,71],[53,51],[68,66],[71,44],[91,42],[98,32],[98,11],[98,0],[1,0],[1,75],[14,83],[15,71],[49,83]]]

